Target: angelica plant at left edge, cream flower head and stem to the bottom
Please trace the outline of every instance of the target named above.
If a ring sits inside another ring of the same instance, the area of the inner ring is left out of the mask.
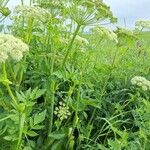
[[[3,76],[1,77],[1,83],[3,83],[3,85],[6,87],[12,102],[11,105],[15,108],[13,111],[15,112],[14,115],[19,115],[19,139],[18,139],[18,143],[17,143],[17,147],[16,149],[20,149],[20,144],[21,144],[21,140],[22,140],[22,126],[24,126],[24,121],[25,121],[25,114],[23,113],[19,113],[18,109],[20,110],[21,105],[18,104],[18,100],[16,99],[16,96],[14,95],[10,84],[12,84],[11,81],[9,81],[8,79],[8,74],[7,74],[7,70],[6,70],[6,62],[9,60],[14,60],[16,62],[20,61],[23,58],[23,55],[25,52],[29,51],[29,47],[27,44],[25,44],[22,40],[14,37],[13,35],[9,35],[9,34],[3,34],[0,33],[0,64],[2,65],[2,73]],[[22,107],[22,111],[24,110],[24,108]],[[12,115],[13,116],[13,115]],[[16,137],[15,139],[16,140]]]

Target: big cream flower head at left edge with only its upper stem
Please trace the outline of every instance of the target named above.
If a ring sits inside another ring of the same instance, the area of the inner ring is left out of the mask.
[[[9,35],[9,34],[3,34],[3,33],[0,34],[0,54],[1,54],[0,63],[3,66],[2,83],[7,87],[7,90],[12,100],[15,102],[15,104],[17,102],[9,87],[9,84],[11,84],[11,82],[8,80],[8,77],[7,77],[5,63],[6,63],[6,60],[10,58],[12,58],[15,61],[20,61],[23,57],[23,54],[28,51],[29,51],[28,45],[26,45],[20,39],[15,38],[14,36]]]

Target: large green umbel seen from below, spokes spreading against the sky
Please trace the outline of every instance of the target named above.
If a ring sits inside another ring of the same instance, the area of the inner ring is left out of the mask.
[[[70,3],[68,13],[79,25],[96,25],[105,19],[110,20],[110,22],[116,21],[110,7],[103,0],[73,1],[72,4]]]

